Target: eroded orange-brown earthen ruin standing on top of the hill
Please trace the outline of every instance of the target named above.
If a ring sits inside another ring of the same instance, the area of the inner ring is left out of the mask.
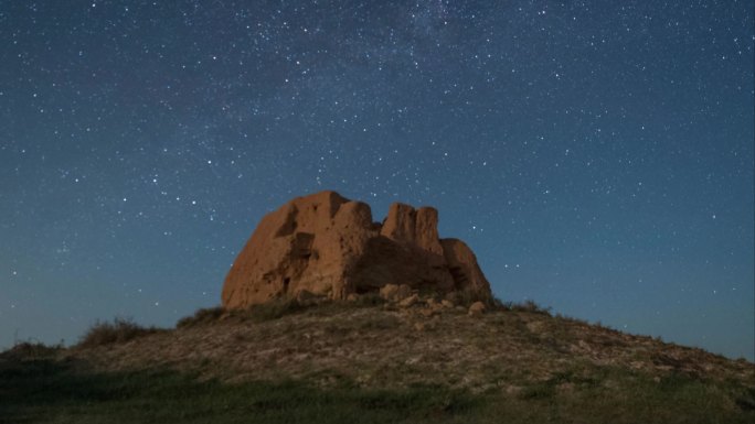
[[[437,222],[430,207],[393,204],[381,225],[369,205],[336,192],[297,197],[262,219],[225,278],[223,306],[302,291],[341,300],[389,284],[489,300],[472,251],[438,238]]]

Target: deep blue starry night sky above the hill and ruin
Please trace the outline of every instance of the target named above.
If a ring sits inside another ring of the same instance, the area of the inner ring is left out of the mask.
[[[504,302],[753,360],[753,8],[0,0],[0,348],[217,305],[334,189],[437,207]]]

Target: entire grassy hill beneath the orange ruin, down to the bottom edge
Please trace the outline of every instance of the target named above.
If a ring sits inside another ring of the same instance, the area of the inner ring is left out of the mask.
[[[201,309],[174,329],[100,325],[70,349],[11,349],[0,355],[0,370],[44,360],[66,376],[118,376],[117,387],[120,379],[145,379],[139,384],[148,392],[164,385],[166,372],[184,376],[161,395],[188,392],[182,407],[202,405],[196,416],[179,420],[187,422],[224,422],[220,417],[228,411],[252,422],[341,422],[312,412],[323,407],[352,411],[342,418],[362,422],[392,416],[391,422],[744,423],[755,417],[752,362],[552,316],[534,304],[481,309],[432,294],[394,301],[281,298],[244,311]],[[274,389],[257,391],[259,384]],[[246,395],[228,401],[225,410],[203,403],[206,393],[219,392]],[[270,393],[284,406],[265,406]],[[3,385],[0,394],[22,393]],[[107,404],[105,398],[95,404]],[[365,399],[376,403],[368,407]],[[82,418],[65,411],[71,422]],[[145,420],[141,413],[137,421]],[[227,422],[247,422],[234,420]]]

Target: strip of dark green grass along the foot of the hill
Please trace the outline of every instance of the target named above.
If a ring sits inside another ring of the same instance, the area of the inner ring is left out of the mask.
[[[753,423],[755,393],[726,383],[661,381],[606,370],[517,393],[442,387],[360,389],[343,381],[225,384],[176,371],[103,373],[52,359],[0,361],[2,423]]]

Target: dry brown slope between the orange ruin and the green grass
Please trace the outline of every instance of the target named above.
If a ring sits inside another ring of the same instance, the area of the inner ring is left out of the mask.
[[[583,374],[615,367],[651,378],[680,373],[755,387],[749,362],[553,317],[539,306],[470,317],[464,308],[371,302],[302,306],[280,301],[243,312],[202,309],[149,340],[76,355],[107,369],[162,363],[228,381],[338,372],[362,387],[422,382],[486,391],[547,381],[578,365]]]

